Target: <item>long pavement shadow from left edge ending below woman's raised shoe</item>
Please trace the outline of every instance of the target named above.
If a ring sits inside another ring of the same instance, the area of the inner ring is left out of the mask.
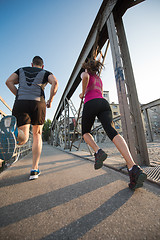
[[[118,179],[118,177],[115,178]],[[116,179],[114,179],[114,181],[115,180]],[[46,194],[2,207],[0,208],[0,227],[16,223],[22,219],[69,202],[111,182],[113,182],[113,179],[105,173]]]

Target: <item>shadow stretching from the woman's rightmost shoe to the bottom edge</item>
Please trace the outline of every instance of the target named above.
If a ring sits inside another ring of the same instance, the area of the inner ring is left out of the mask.
[[[133,192],[131,192],[128,188],[123,189],[91,213],[77,219],[68,226],[53,232],[41,240],[77,240],[104,219],[112,215],[117,209],[125,204],[132,195]]]

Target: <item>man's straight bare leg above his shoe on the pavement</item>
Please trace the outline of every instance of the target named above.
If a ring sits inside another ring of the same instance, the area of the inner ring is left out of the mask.
[[[42,128],[43,125],[33,125],[33,145],[32,145],[32,169],[38,169],[38,163],[42,151]]]

